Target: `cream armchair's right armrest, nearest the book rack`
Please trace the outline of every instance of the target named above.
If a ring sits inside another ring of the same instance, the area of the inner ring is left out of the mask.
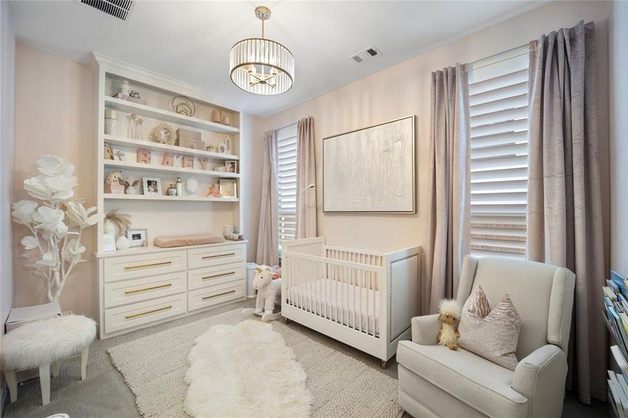
[[[548,344],[519,361],[512,376],[512,389],[528,398],[528,417],[560,417],[565,396],[567,356]]]

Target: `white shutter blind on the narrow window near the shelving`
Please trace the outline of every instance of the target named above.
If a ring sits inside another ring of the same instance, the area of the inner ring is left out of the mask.
[[[277,130],[279,241],[293,240],[296,229],[296,123]]]

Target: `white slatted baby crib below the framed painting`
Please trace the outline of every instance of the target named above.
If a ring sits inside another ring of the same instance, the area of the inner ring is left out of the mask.
[[[393,252],[282,242],[282,316],[382,360],[418,316],[419,247]]]

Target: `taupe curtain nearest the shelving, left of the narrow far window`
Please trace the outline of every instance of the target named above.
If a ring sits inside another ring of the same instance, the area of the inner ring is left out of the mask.
[[[256,263],[279,263],[279,226],[277,225],[277,131],[264,132],[261,204],[257,235]]]

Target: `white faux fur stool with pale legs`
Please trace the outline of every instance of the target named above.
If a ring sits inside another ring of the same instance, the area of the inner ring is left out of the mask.
[[[87,374],[89,345],[96,323],[85,316],[70,315],[27,323],[2,336],[0,365],[6,377],[11,402],[17,399],[15,372],[39,367],[41,403],[50,402],[50,366],[59,376],[59,361],[81,353],[81,380]]]

